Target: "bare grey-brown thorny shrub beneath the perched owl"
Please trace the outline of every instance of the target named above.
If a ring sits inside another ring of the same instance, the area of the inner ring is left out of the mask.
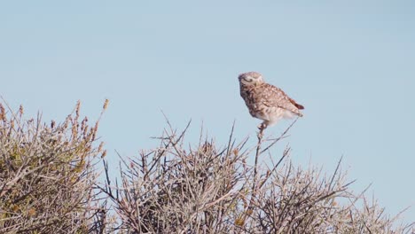
[[[274,162],[266,152],[293,125],[276,139],[261,131],[252,149],[232,133],[223,148],[202,134],[185,147],[187,128],[168,126],[158,148],[122,160],[121,184],[106,165],[102,190],[121,218],[119,233],[413,233],[413,224],[398,225],[397,216],[350,192],[341,161],[330,176],[294,167],[290,148]]]

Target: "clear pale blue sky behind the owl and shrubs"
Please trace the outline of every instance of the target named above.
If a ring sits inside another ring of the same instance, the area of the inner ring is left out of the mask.
[[[78,99],[107,159],[157,145],[168,116],[226,144],[256,126],[238,74],[258,71],[305,106],[296,165],[342,168],[389,214],[415,204],[413,1],[0,1],[0,94],[27,117],[63,121]],[[279,135],[290,124],[267,129]],[[115,166],[114,166],[115,167]],[[403,214],[415,221],[415,207]]]

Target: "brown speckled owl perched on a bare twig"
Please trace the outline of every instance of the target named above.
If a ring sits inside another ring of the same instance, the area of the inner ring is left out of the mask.
[[[239,74],[238,78],[240,96],[244,98],[249,113],[263,121],[259,129],[265,129],[282,118],[302,116],[300,110],[304,109],[304,106],[286,96],[283,90],[264,82],[262,74],[249,72]]]

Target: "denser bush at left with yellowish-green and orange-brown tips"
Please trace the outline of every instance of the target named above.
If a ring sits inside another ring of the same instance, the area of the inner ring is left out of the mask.
[[[78,102],[62,123],[44,124],[0,104],[0,233],[98,230],[93,161],[105,152],[95,144],[98,122],[90,127],[79,111]]]

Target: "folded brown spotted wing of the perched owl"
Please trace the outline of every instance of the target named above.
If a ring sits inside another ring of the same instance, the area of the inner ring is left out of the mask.
[[[286,93],[268,83],[265,83],[264,92],[262,92],[262,103],[267,106],[278,106],[290,112],[302,115],[299,110],[304,109],[304,106],[296,103],[294,99],[289,98]]]

